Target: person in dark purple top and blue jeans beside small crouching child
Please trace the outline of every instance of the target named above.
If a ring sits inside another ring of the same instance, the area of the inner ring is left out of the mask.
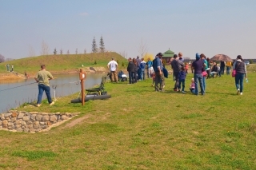
[[[202,86],[202,68],[203,63],[200,59],[200,55],[198,53],[195,54],[196,60],[192,63],[192,67],[194,68],[194,94],[198,95],[198,81],[201,89],[202,95],[205,94],[203,86]]]

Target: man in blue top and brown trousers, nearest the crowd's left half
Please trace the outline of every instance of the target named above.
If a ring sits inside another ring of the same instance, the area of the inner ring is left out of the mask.
[[[153,61],[153,68],[154,68],[154,73],[155,73],[155,84],[154,84],[154,89],[155,91],[163,91],[163,88],[165,86],[165,77],[162,73],[162,53],[158,53],[158,55],[154,58]],[[160,86],[158,86],[160,84]]]

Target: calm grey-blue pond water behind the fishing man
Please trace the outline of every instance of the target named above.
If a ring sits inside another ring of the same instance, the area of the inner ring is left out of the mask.
[[[104,74],[105,75],[105,74]],[[85,89],[98,85],[102,81],[103,74],[86,74]],[[64,97],[81,90],[78,74],[54,75],[57,77],[50,80],[50,94],[52,99]],[[54,90],[53,86],[56,85]],[[0,84],[0,113],[14,109],[26,102],[37,101],[38,84],[34,78],[24,81]],[[44,93],[43,99],[46,98]]]

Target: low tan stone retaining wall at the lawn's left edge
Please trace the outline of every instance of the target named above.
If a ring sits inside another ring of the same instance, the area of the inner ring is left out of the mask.
[[[79,113],[38,113],[10,110],[0,113],[0,130],[12,132],[42,132],[60,125]]]

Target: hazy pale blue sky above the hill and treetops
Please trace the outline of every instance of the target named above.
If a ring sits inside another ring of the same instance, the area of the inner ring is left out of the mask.
[[[0,0],[0,54],[6,58],[42,53],[91,52],[102,36],[106,50],[136,57],[182,52],[213,57],[256,58],[254,0]]]

